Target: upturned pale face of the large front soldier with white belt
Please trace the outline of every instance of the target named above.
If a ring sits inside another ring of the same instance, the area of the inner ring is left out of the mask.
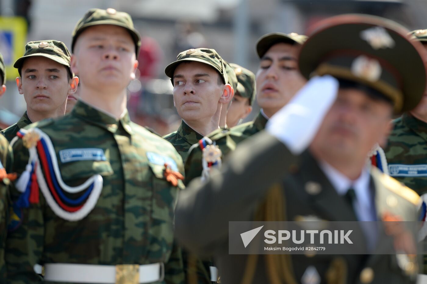
[[[114,25],[89,27],[79,35],[71,66],[83,88],[119,93],[135,78],[135,44],[126,29]]]

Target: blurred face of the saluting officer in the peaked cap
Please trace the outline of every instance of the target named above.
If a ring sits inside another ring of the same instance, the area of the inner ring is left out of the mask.
[[[391,129],[392,105],[357,89],[339,89],[310,148],[324,157],[363,163],[375,143],[384,145]]]

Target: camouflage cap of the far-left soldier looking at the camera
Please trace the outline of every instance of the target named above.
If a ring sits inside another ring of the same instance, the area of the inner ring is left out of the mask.
[[[18,69],[21,75],[23,62],[26,58],[32,56],[43,56],[50,60],[56,61],[59,64],[65,65],[71,78],[74,77],[73,70],[70,67],[70,52],[67,46],[62,41],[47,40],[47,41],[30,41],[25,46],[25,53],[22,57],[18,58],[13,64],[13,67]]]

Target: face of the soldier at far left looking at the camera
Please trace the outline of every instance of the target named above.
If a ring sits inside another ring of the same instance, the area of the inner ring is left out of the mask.
[[[17,78],[18,91],[24,95],[27,108],[35,112],[65,109],[70,87],[66,67],[45,57],[27,58],[22,65],[22,78]]]

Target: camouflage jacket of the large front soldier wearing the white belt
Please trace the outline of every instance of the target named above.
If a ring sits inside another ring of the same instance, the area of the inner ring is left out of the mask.
[[[78,221],[58,217],[44,193],[40,193],[38,203],[21,208],[22,223],[6,241],[8,281],[40,281],[33,270],[35,264],[163,262],[165,279],[159,283],[182,283],[184,273],[180,249],[173,243],[173,219],[183,184],[171,185],[164,167],[167,161],[171,168],[184,172],[181,156],[173,146],[131,122],[127,112],[117,120],[82,101],[70,115],[29,126],[35,127],[50,137],[66,185],[81,185],[99,174],[102,191],[94,209]],[[13,148],[13,169],[22,173],[28,150],[22,139]],[[85,155],[84,150],[96,155]],[[45,171],[43,174],[47,179]],[[66,192],[66,197],[76,200],[85,192]],[[20,193],[14,188],[11,195],[17,200]]]

